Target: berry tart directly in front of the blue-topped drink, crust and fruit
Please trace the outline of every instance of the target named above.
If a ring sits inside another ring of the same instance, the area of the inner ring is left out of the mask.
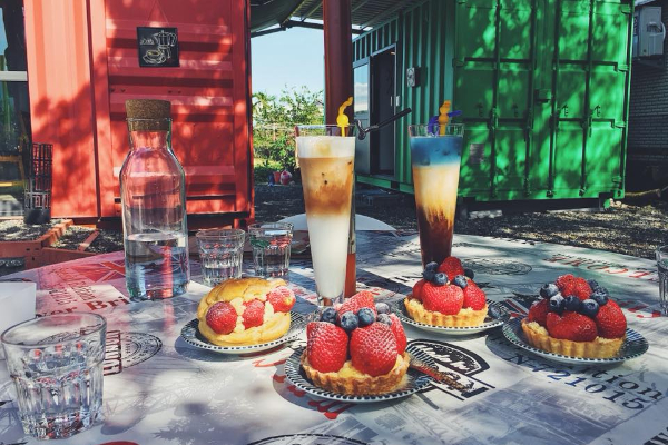
[[[413,294],[404,299],[409,317],[431,326],[480,326],[488,314],[484,291],[473,281],[456,257],[429,263]]]

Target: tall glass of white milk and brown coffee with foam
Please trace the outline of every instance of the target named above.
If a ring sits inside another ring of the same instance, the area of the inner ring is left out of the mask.
[[[318,304],[343,300],[353,192],[352,127],[298,126],[297,157]]]

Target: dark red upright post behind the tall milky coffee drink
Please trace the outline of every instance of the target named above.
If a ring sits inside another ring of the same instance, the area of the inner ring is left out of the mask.
[[[338,106],[353,96],[353,42],[351,32],[351,0],[323,0],[325,39],[325,122],[336,123]],[[353,121],[353,107],[346,109]],[[354,172],[353,172],[354,175]],[[356,293],[355,261],[355,186],[345,273],[344,296]]]

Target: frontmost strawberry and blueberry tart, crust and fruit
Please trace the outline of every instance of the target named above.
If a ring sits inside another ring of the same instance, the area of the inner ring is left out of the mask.
[[[347,395],[376,395],[404,385],[410,357],[401,322],[385,303],[361,291],[328,307],[306,326],[301,357],[315,386]]]

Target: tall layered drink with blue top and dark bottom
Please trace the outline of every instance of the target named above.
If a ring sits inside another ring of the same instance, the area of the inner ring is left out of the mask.
[[[450,256],[464,126],[410,126],[422,265]]]

